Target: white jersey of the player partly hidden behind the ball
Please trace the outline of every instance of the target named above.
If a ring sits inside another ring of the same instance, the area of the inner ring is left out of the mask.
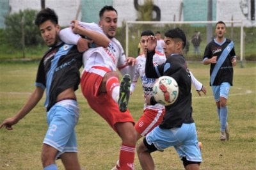
[[[144,93],[144,98],[147,96],[153,95],[153,86],[154,83],[156,82],[157,79],[150,79],[146,77],[145,75],[145,63],[146,63],[146,58],[144,54],[141,54],[137,58],[137,65],[136,65],[136,70],[134,77],[132,79],[132,84],[131,84],[131,91],[134,91],[134,88],[136,86],[136,83],[138,82],[138,79],[141,79],[141,84],[143,88],[143,93]],[[166,61],[166,57],[164,54],[161,54],[160,52],[156,51],[156,54],[153,56],[153,63],[154,65],[161,65]],[[161,104],[156,104],[156,105],[147,105],[146,100],[144,101],[144,109],[164,109],[164,105]]]

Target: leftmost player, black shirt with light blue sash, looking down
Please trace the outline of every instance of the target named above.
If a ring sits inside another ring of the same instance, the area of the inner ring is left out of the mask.
[[[56,170],[56,158],[61,158],[65,169],[80,169],[77,157],[75,126],[79,107],[75,91],[79,86],[82,54],[76,45],[60,41],[58,16],[50,8],[36,15],[35,24],[50,48],[41,59],[35,81],[35,90],[15,116],[3,121],[0,128],[12,130],[12,126],[26,116],[44,95],[49,128],[42,147],[44,170]],[[29,165],[28,165],[29,169]]]

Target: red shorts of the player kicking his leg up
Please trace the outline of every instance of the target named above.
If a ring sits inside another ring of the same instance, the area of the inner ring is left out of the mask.
[[[116,104],[112,97],[109,97],[108,93],[98,93],[103,76],[105,75],[102,72],[107,73],[110,70],[102,67],[95,68],[95,71],[92,72],[84,71],[81,77],[81,89],[90,107],[100,114],[115,131],[115,123],[132,122],[134,124],[128,109],[125,112],[120,112],[118,104]],[[100,73],[98,74],[99,70]]]

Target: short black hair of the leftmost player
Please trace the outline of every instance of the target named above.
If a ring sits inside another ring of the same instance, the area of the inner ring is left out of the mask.
[[[58,24],[58,15],[51,8],[45,8],[37,13],[35,24],[36,26],[40,26],[47,20],[51,20],[52,23]]]

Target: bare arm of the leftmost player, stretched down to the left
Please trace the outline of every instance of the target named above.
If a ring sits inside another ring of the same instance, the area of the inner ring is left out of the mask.
[[[33,93],[30,95],[28,101],[26,104],[20,109],[15,116],[12,118],[8,118],[3,121],[3,123],[0,125],[0,128],[5,127],[7,130],[12,130],[12,125],[15,125],[19,122],[22,118],[24,118],[40,101],[40,99],[44,95],[44,89],[36,87]]]

